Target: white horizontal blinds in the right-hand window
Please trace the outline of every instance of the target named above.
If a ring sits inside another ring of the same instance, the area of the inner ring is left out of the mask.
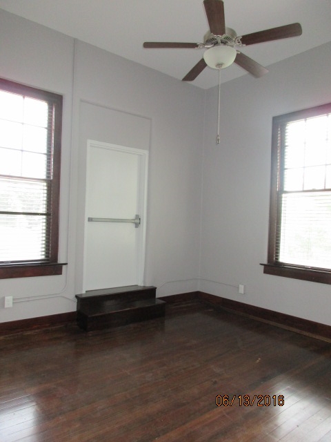
[[[331,114],[279,124],[279,263],[331,269]]]

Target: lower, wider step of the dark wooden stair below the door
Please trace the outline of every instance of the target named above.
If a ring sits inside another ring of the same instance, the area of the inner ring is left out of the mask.
[[[102,308],[101,308],[102,307]],[[165,315],[165,302],[157,298],[134,301],[108,300],[102,305],[77,311],[77,323],[81,329],[92,330],[120,327]]]

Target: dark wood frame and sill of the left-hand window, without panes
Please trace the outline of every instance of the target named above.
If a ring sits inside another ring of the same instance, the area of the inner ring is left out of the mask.
[[[32,260],[27,262],[1,262],[0,279],[5,278],[26,278],[31,276],[52,276],[61,275],[63,265],[66,263],[58,262],[59,251],[59,190],[60,190],[60,171],[61,171],[61,133],[62,133],[62,104],[61,95],[50,93],[46,90],[32,88],[23,84],[15,83],[7,79],[0,79],[0,89],[10,93],[17,93],[35,99],[41,99],[48,102],[53,109],[52,131],[48,130],[48,136],[52,137],[52,190],[51,197],[48,199],[48,212],[50,212],[50,247],[49,256],[46,260]],[[51,132],[51,133],[50,133]]]

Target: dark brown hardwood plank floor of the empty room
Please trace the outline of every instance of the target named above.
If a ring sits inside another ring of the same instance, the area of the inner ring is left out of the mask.
[[[330,356],[199,302],[106,331],[4,336],[0,441],[331,441]]]

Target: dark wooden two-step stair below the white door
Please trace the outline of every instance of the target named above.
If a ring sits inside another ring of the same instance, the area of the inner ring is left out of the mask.
[[[77,323],[90,332],[164,316],[165,302],[156,298],[156,291],[130,285],[76,295]]]

